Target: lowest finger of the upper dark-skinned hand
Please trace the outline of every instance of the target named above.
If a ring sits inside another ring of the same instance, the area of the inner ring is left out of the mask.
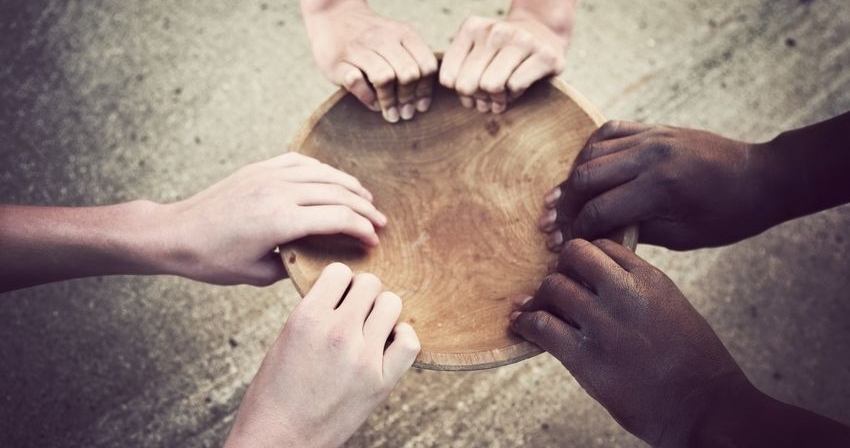
[[[655,191],[653,185],[642,187],[640,178],[608,190],[581,207],[570,232],[576,238],[595,239],[640,224],[652,218],[653,209],[658,207]]]

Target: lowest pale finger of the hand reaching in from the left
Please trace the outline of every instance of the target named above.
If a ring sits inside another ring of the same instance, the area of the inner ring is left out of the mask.
[[[284,244],[307,235],[345,234],[359,239],[367,246],[378,245],[378,234],[372,222],[344,205],[298,207],[295,218],[282,222],[280,233],[288,238]]]

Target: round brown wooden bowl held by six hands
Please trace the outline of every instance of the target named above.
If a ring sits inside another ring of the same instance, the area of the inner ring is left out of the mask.
[[[564,180],[602,116],[558,79],[501,115],[464,109],[437,88],[431,110],[389,124],[340,90],[292,149],[357,177],[389,218],[378,247],[311,237],[281,247],[303,296],[333,261],[372,272],[404,302],[416,366],[476,370],[540,348],[508,327],[512,297],[536,291],[557,258],[537,229],[543,195]],[[613,235],[634,249],[636,229]]]

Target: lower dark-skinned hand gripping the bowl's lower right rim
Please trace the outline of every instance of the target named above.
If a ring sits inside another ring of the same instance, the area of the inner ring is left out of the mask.
[[[558,358],[632,434],[652,446],[687,446],[721,391],[735,391],[733,407],[757,401],[676,285],[625,247],[571,240],[556,270],[512,313],[512,328]]]

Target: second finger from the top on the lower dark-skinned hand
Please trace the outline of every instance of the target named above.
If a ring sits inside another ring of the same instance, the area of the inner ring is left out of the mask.
[[[605,252],[582,239],[572,239],[564,244],[555,269],[593,292],[599,292],[612,279],[622,278],[625,274]]]

